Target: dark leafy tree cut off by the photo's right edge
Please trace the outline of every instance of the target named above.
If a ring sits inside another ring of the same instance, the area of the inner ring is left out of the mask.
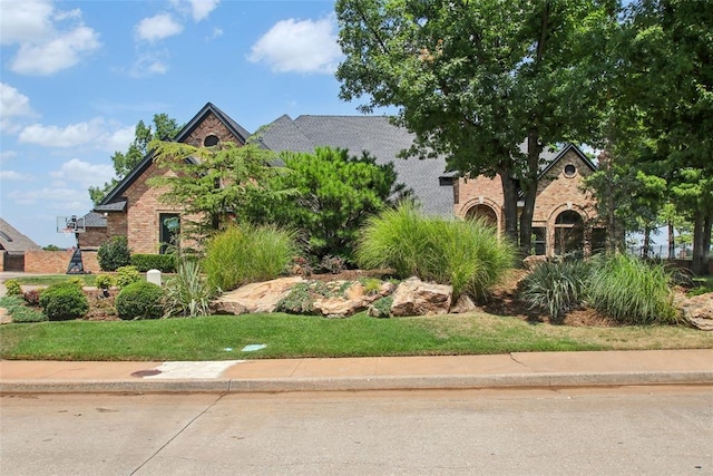
[[[642,113],[651,161],[691,216],[693,271],[705,273],[713,226],[713,8],[705,0],[639,0],[628,17],[627,99]]]

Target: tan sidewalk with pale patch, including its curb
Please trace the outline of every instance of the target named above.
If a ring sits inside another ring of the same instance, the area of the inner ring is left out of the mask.
[[[497,356],[0,361],[0,392],[280,392],[713,385],[713,349]]]

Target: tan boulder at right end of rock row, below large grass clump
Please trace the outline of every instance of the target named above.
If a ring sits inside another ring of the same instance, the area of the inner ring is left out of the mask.
[[[409,278],[393,293],[391,315],[446,314],[450,310],[452,292],[449,285]]]

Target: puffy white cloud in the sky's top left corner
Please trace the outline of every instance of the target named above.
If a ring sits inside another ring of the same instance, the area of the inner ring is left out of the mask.
[[[101,46],[98,33],[82,23],[81,11],[55,10],[49,0],[3,0],[0,22],[2,45],[19,46],[9,64],[20,75],[52,75]]]

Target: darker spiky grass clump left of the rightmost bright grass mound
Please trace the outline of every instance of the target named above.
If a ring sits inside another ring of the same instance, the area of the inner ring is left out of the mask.
[[[520,299],[554,320],[582,305],[589,265],[583,260],[539,263],[520,283]]]

